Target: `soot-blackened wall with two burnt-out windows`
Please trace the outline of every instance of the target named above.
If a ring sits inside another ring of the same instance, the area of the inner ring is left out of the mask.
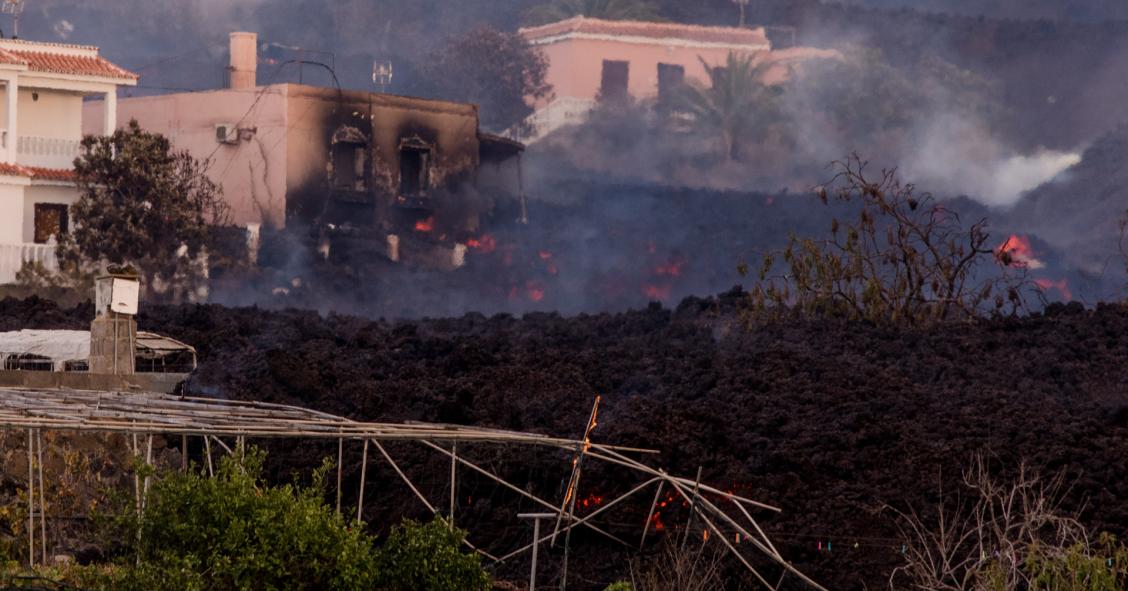
[[[297,85],[288,97],[291,223],[393,230],[462,197],[477,171],[474,105]]]

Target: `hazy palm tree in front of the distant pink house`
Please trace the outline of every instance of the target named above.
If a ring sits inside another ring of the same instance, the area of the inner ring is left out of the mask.
[[[767,129],[783,90],[764,83],[769,64],[756,63],[752,55],[730,52],[724,65],[711,67],[705,60],[702,65],[708,72],[710,86],[686,85],[682,108],[699,130],[717,134],[724,157],[734,160],[741,141],[757,138]]]

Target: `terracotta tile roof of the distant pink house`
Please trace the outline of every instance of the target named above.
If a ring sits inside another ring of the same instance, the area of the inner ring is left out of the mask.
[[[521,34],[529,39],[555,37],[558,35],[566,35],[569,33],[653,37],[655,39],[676,38],[702,43],[724,43],[732,45],[768,44],[768,38],[763,27],[705,27],[699,25],[682,25],[678,23],[602,20],[582,16],[572,17],[567,20],[561,20],[558,23],[552,23],[539,27],[521,29]]]

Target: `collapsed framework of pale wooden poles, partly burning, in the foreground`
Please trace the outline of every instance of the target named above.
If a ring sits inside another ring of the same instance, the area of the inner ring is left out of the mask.
[[[138,457],[143,456],[147,464],[151,464],[152,461],[152,438],[155,435],[180,435],[182,451],[187,449],[187,438],[200,436],[203,438],[206,450],[209,473],[213,473],[212,443],[215,443],[228,453],[232,453],[248,438],[336,440],[338,443],[338,512],[341,511],[341,465],[344,442],[362,441],[364,451],[361,461],[360,492],[356,503],[358,522],[362,520],[363,515],[364,480],[370,446],[380,452],[380,456],[429,511],[440,513],[440,508],[418,489],[384,446],[385,442],[389,441],[414,441],[450,460],[450,503],[449,508],[444,509],[448,509],[449,512],[447,515],[451,521],[455,519],[455,485],[459,467],[486,477],[497,485],[550,511],[555,519],[555,527],[552,528],[552,531],[544,536],[535,535],[536,539],[508,554],[495,556],[474,546],[469,541],[467,541],[467,545],[486,558],[495,563],[502,563],[526,553],[532,553],[535,556],[536,548],[539,545],[546,541],[555,544],[557,537],[563,533],[565,543],[564,581],[562,581],[562,589],[566,588],[567,550],[571,531],[582,527],[619,544],[633,546],[633,544],[627,543],[619,536],[615,536],[599,527],[593,520],[627,499],[653,488],[654,497],[650,504],[650,514],[642,524],[641,539],[638,541],[640,548],[645,543],[659,499],[662,491],[666,489],[675,493],[677,497],[681,497],[690,509],[690,523],[687,523],[686,532],[688,533],[694,520],[700,520],[700,529],[704,536],[707,537],[712,533],[764,588],[777,590],[783,584],[785,577],[791,575],[805,583],[810,589],[826,591],[825,588],[804,575],[779,554],[757,520],[752,517],[754,511],[778,512],[778,508],[728,493],[702,483],[700,470],[698,470],[696,478],[679,477],[647,466],[632,457],[632,455],[655,453],[653,450],[610,446],[591,441],[591,432],[596,425],[598,406],[599,400],[597,399],[584,430],[584,438],[582,440],[572,440],[536,433],[461,425],[369,423],[352,421],[308,408],[271,403],[196,398],[153,392],[0,388],[0,429],[26,430],[27,432],[28,557],[29,563],[33,565],[36,554],[37,517],[39,521],[39,555],[44,561],[47,555],[46,515],[43,511],[46,502],[44,497],[43,446],[41,436],[44,430],[130,435],[132,436],[133,453]],[[143,455],[141,441],[139,440],[142,436],[146,438]],[[220,438],[235,438],[235,449],[224,443]],[[501,478],[494,473],[468,460],[466,457],[460,456],[458,453],[459,444],[464,446],[464,450],[466,446],[470,444],[519,444],[555,448],[572,453],[571,474],[569,475],[563,501],[558,504],[553,503],[534,495],[522,486]],[[182,453],[183,461],[186,461],[186,453]],[[609,462],[637,475],[642,482],[594,511],[583,517],[578,517],[575,514],[575,501],[584,461]],[[134,488],[136,508],[141,512],[144,509],[149,491],[149,476],[146,476],[143,479],[140,476],[134,476]],[[36,512],[36,505],[39,508],[38,512]],[[517,515],[514,514],[514,517]],[[537,531],[539,531],[539,528]],[[731,539],[743,539],[747,540],[747,544],[737,545]],[[776,582],[770,582],[767,574],[763,572],[764,567],[754,565],[748,554],[758,554],[760,557],[766,557],[769,564],[774,564],[779,572]],[[535,562],[534,568],[536,568]]]

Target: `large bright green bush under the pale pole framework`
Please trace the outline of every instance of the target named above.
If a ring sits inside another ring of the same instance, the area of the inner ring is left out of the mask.
[[[264,455],[226,458],[214,478],[170,474],[155,483],[142,519],[123,515],[127,564],[118,589],[372,589],[372,540],[310,487],[264,486]]]

